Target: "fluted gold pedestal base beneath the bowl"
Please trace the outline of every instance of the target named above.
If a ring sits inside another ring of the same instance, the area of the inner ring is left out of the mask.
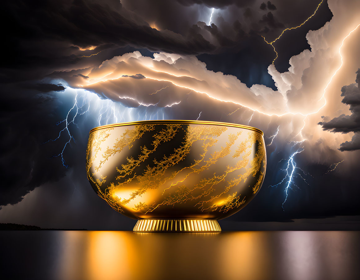
[[[211,219],[141,219],[134,232],[220,232],[216,220]]]

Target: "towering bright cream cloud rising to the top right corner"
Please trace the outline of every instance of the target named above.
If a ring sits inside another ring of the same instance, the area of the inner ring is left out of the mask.
[[[360,10],[356,1],[347,1],[346,12],[338,9],[338,5],[335,1],[329,2],[334,17],[319,30],[307,33],[311,50],[293,56],[287,72],[279,73],[273,65],[268,68],[291,111],[302,107],[303,113],[313,113],[325,104],[324,89],[341,65],[341,42],[359,24]]]

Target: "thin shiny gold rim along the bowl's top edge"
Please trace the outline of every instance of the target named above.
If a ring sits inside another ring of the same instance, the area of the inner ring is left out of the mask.
[[[264,136],[264,132],[262,132],[260,129],[248,126],[248,125],[239,125],[237,123],[230,123],[230,122],[213,122],[213,121],[190,121],[190,120],[176,120],[176,119],[166,119],[166,120],[153,120],[153,121],[136,121],[136,122],[118,122],[118,123],[111,123],[109,125],[102,125],[98,127],[94,127],[90,130],[89,135],[91,132],[94,132],[96,130],[100,130],[103,128],[110,128],[110,127],[117,127],[117,126],[130,126],[130,125],[164,125],[164,124],[196,124],[196,125],[220,125],[220,126],[230,126],[230,127],[238,127],[238,128],[245,128],[248,130],[256,131],[260,133],[262,136]]]

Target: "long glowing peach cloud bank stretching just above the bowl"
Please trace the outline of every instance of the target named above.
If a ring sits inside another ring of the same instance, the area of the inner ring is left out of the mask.
[[[213,100],[231,102],[266,114],[287,113],[280,92],[262,85],[248,88],[235,76],[207,70],[206,64],[194,56],[155,53],[154,58],[150,58],[135,51],[104,61],[99,67],[87,69],[85,75],[89,79],[84,80],[73,72],[54,73],[54,76],[64,78],[73,88],[97,92],[116,102],[122,102],[119,97],[134,98],[139,104],[155,104],[160,99],[162,103],[159,105],[167,105],[177,102],[180,96],[184,97],[193,90]],[[124,79],[126,77],[136,77],[138,81]],[[139,78],[142,78],[141,82]],[[169,89],[156,95],[151,94],[163,85]]]

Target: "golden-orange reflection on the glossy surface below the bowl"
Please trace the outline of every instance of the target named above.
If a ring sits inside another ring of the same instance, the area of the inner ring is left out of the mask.
[[[270,269],[264,232],[64,234],[61,279],[264,279]]]

